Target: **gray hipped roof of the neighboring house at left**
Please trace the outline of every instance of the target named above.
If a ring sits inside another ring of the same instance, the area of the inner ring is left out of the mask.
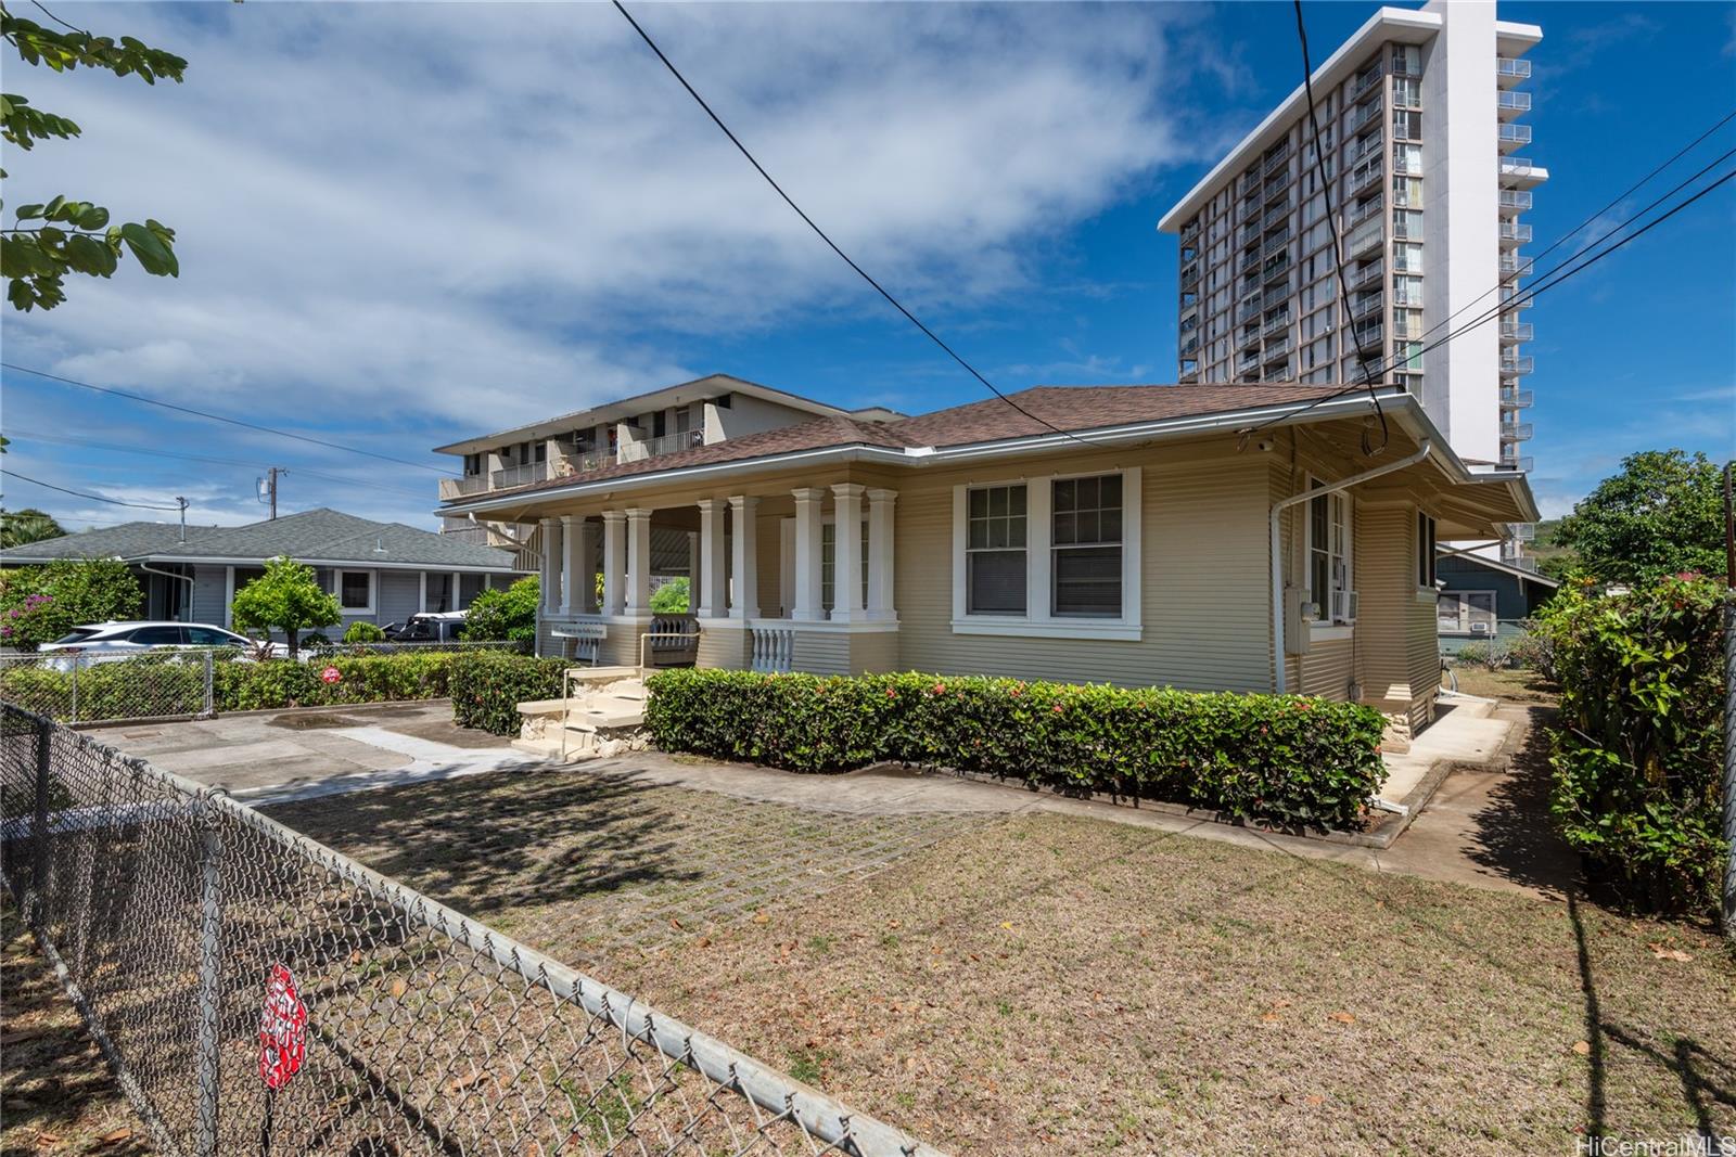
[[[174,522],[122,522],[82,534],[0,550],[0,562],[125,559],[128,562],[264,560],[278,555],[368,567],[516,571],[505,550],[465,543],[451,534],[403,522],[375,522],[325,507],[247,526],[189,526],[186,541]]]

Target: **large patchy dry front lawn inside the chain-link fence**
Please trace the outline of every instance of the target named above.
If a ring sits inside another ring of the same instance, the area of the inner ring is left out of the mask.
[[[865,820],[583,775],[278,815],[960,1154],[1736,1133],[1729,949],[1583,902],[1061,815]]]

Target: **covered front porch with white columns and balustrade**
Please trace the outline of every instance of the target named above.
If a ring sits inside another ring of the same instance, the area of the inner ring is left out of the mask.
[[[894,670],[896,500],[842,480],[542,515],[536,650],[604,666]],[[687,612],[654,612],[658,581],[681,576]]]

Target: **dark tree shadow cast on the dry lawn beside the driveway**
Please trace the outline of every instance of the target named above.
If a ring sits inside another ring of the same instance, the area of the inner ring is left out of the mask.
[[[477,919],[701,876],[632,777],[495,772],[264,808]]]

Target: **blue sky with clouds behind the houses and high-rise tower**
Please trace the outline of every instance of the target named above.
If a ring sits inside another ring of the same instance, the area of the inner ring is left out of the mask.
[[[1370,12],[1311,3],[1316,59]],[[1174,378],[1175,241],[1156,220],[1300,68],[1286,3],[639,14],[840,245],[1007,390]],[[182,276],[123,269],[75,281],[50,314],[7,309],[9,363],[432,467],[448,463],[431,446],[710,371],[908,411],[981,395],[806,232],[604,5],[62,16],[179,52],[187,82],[9,62],[9,90],[85,137],[12,151],[7,201],[66,193],[158,217],[179,231]],[[1552,179],[1528,217],[1533,250],[1736,108],[1736,5],[1502,16],[1545,35],[1526,153]],[[1693,168],[1731,147],[1736,123]],[[1632,451],[1736,449],[1733,224],[1726,186],[1529,310],[1545,513]],[[285,510],[434,526],[432,470],[14,371],[0,406],[5,465],[59,486],[186,494],[193,520],[240,522],[262,515],[253,479],[278,465]],[[5,505],[75,527],[161,517],[14,479]]]

